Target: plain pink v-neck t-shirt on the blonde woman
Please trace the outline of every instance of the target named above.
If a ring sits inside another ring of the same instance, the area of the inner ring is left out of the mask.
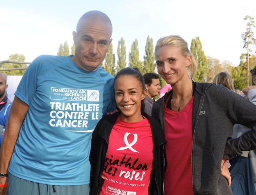
[[[164,108],[166,160],[165,194],[194,195],[192,186],[193,99],[181,112]]]

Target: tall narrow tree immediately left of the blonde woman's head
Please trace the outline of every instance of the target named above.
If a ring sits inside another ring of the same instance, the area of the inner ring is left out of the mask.
[[[143,64],[143,74],[148,72],[154,72],[154,68],[156,64],[154,63],[154,46],[153,46],[153,39],[147,36],[147,42],[145,46],[145,53],[146,55],[144,58]]]

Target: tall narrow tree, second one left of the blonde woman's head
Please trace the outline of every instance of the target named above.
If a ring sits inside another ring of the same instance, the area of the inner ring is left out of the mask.
[[[137,39],[133,41],[131,52],[129,52],[129,66],[132,68],[137,67],[141,71],[141,61],[139,60],[139,47]]]

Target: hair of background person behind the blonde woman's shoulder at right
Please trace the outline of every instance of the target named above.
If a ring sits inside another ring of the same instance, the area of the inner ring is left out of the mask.
[[[235,92],[233,79],[227,72],[220,72],[213,78],[213,83],[215,84],[222,84],[226,86],[229,90]]]

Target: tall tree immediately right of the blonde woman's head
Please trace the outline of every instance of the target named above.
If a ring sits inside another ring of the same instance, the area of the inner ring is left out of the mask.
[[[198,82],[204,82],[207,80],[207,73],[209,71],[209,68],[207,58],[204,55],[202,43],[199,37],[196,37],[196,39],[192,39],[190,50],[195,56],[197,63],[197,71],[194,80]]]

